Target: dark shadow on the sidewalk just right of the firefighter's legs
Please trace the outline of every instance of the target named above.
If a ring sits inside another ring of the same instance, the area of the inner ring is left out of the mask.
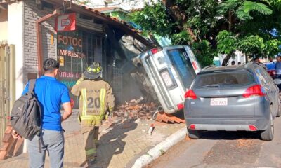
[[[135,130],[137,125],[133,120],[125,120],[124,123],[108,128],[109,131],[99,137],[98,157],[93,167],[116,167],[113,164],[118,164],[117,162],[110,165],[112,157],[124,151],[126,132]]]

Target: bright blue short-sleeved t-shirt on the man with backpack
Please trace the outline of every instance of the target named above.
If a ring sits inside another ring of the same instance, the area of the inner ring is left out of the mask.
[[[28,92],[29,83],[22,94]],[[56,78],[41,76],[36,80],[34,94],[37,97],[42,111],[42,128],[46,130],[63,130],[61,127],[60,104],[70,102],[70,94],[66,85]]]

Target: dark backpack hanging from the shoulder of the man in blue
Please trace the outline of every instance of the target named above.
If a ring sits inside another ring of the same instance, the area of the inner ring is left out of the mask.
[[[41,132],[41,106],[34,96],[36,80],[30,80],[28,92],[13,104],[11,125],[13,130],[25,139],[32,139]]]

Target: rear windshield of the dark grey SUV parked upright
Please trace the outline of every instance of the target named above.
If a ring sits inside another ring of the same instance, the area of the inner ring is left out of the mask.
[[[198,75],[193,87],[239,87],[252,83],[255,79],[249,71],[215,71]]]

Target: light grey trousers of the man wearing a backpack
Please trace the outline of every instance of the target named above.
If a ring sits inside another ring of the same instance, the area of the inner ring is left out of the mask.
[[[46,151],[48,151],[51,168],[63,167],[65,145],[63,131],[42,130],[41,134],[41,153],[38,136],[35,136],[32,140],[27,140],[30,168],[44,167]]]

